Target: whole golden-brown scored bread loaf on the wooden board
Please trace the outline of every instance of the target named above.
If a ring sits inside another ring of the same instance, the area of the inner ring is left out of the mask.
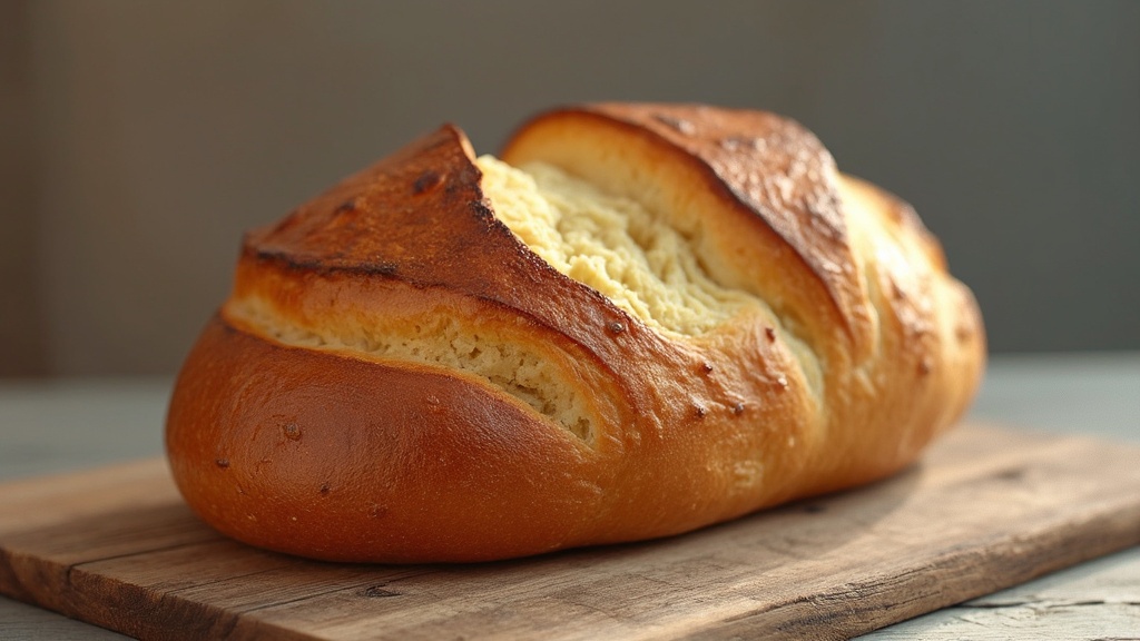
[[[684,533],[913,462],[985,341],[910,206],[768,113],[455,127],[249,233],[178,378],[210,525],[326,560]]]

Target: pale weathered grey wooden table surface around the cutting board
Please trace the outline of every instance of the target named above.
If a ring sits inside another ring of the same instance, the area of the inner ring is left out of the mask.
[[[0,481],[161,454],[170,384],[0,380]],[[995,357],[971,417],[1140,443],[1140,352]],[[0,640],[8,639],[125,636],[0,597]],[[862,639],[1140,640],[1140,549]]]

